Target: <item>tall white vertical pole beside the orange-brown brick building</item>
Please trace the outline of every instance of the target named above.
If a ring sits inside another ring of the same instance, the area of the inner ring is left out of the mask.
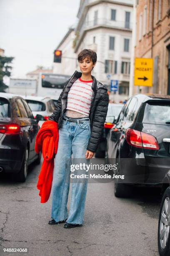
[[[134,58],[135,58],[135,40],[136,40],[136,0],[133,0],[133,30],[132,30],[132,51],[130,59],[130,82],[129,82],[129,97],[133,95],[134,86]]]

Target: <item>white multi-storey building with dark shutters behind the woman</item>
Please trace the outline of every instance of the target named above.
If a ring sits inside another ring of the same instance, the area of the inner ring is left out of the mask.
[[[118,80],[118,91],[110,92],[110,99],[124,100],[129,92],[133,0],[81,0],[77,18],[75,53],[96,51],[92,74],[108,90],[111,80]]]

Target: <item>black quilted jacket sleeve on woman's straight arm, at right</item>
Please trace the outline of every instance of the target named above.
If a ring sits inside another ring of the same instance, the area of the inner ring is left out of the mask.
[[[92,152],[97,151],[97,147],[100,142],[100,138],[104,128],[104,123],[106,120],[107,109],[109,104],[109,95],[107,91],[102,89],[101,92],[102,93],[100,93],[100,100],[98,101],[98,104],[95,109],[95,114],[92,122],[91,135],[90,135],[89,143],[87,146],[87,150],[90,150]]]

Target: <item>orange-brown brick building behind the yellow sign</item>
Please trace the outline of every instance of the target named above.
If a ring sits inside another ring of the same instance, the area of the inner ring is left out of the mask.
[[[153,86],[133,93],[170,95],[170,0],[136,0],[135,57],[153,58]],[[139,90],[140,89],[140,90]]]

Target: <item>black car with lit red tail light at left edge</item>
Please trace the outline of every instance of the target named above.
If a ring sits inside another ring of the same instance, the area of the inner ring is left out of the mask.
[[[34,150],[39,128],[22,97],[0,93],[0,172],[25,181],[28,165],[33,161],[40,164],[41,155]]]

